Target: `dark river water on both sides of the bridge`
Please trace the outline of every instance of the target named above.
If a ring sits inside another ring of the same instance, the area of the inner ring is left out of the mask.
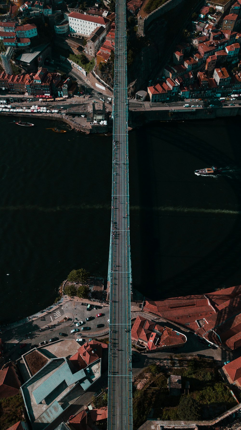
[[[0,117],[1,319],[51,304],[73,268],[107,276],[112,139]],[[134,287],[150,298],[241,280],[240,119],[129,134]],[[226,167],[201,177],[195,169]],[[9,275],[7,275],[9,273]]]

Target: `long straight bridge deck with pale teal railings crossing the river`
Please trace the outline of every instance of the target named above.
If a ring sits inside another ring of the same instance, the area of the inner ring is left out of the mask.
[[[112,212],[108,285],[108,430],[132,430],[131,252],[129,223],[126,4],[116,0]]]

